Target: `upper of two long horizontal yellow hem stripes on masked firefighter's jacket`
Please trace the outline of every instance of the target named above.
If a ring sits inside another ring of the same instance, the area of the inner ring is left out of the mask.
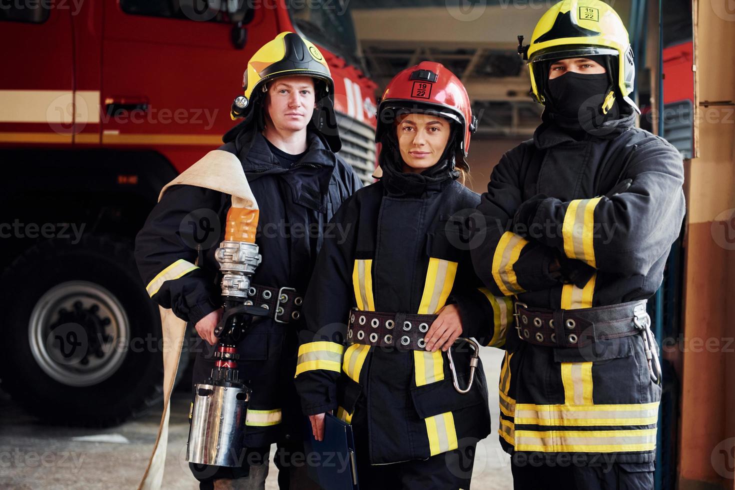
[[[518,403],[515,423],[521,425],[653,425],[659,402],[612,405],[534,405]]]

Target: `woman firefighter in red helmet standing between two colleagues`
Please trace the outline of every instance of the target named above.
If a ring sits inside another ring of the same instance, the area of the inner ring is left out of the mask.
[[[326,412],[353,426],[362,488],[467,489],[490,433],[478,346],[465,337],[500,346],[511,315],[478,289],[462,240],[462,211],[479,203],[456,181],[474,129],[444,66],[398,73],[379,104],[383,175],[334,215],[348,234],[325,237],[309,283],[296,387],[317,439]],[[458,337],[467,343],[450,350]]]

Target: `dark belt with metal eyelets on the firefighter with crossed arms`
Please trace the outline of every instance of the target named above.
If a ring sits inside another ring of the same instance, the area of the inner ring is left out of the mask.
[[[546,347],[585,347],[595,340],[640,334],[650,324],[646,300],[583,309],[534,308],[514,304],[521,340]]]

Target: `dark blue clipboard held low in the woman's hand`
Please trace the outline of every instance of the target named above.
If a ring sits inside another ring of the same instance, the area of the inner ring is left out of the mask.
[[[314,439],[308,417],[304,432],[309,478],[324,490],[359,490],[352,426],[332,414],[326,414],[323,441]],[[310,464],[309,461],[318,461],[318,464]]]

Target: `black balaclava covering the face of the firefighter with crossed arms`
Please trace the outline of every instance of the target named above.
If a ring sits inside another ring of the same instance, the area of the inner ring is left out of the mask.
[[[614,90],[611,82],[614,73],[609,63],[603,57],[589,59],[605,66],[607,73],[582,74],[570,71],[546,82],[548,119],[572,133],[594,131],[604,123],[621,117],[617,90]],[[548,62],[545,73],[548,74],[550,66],[551,62]],[[603,102],[611,90],[615,94],[615,102],[607,113],[603,113]]]

